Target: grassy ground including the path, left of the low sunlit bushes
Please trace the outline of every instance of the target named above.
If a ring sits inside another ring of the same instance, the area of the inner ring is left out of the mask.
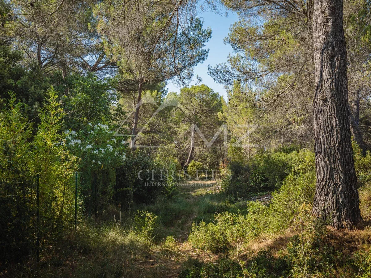
[[[187,260],[210,261],[187,242],[192,223],[213,221],[215,213],[239,211],[216,184],[185,186],[171,199],[158,198],[124,214],[106,209],[104,221],[82,221],[55,246],[43,246],[39,263],[1,273],[8,277],[177,277]],[[137,211],[146,212],[145,215]],[[138,218],[138,215],[140,216]],[[148,219],[148,215],[152,218]],[[145,219],[147,217],[147,219]],[[10,268],[9,268],[10,269]]]

